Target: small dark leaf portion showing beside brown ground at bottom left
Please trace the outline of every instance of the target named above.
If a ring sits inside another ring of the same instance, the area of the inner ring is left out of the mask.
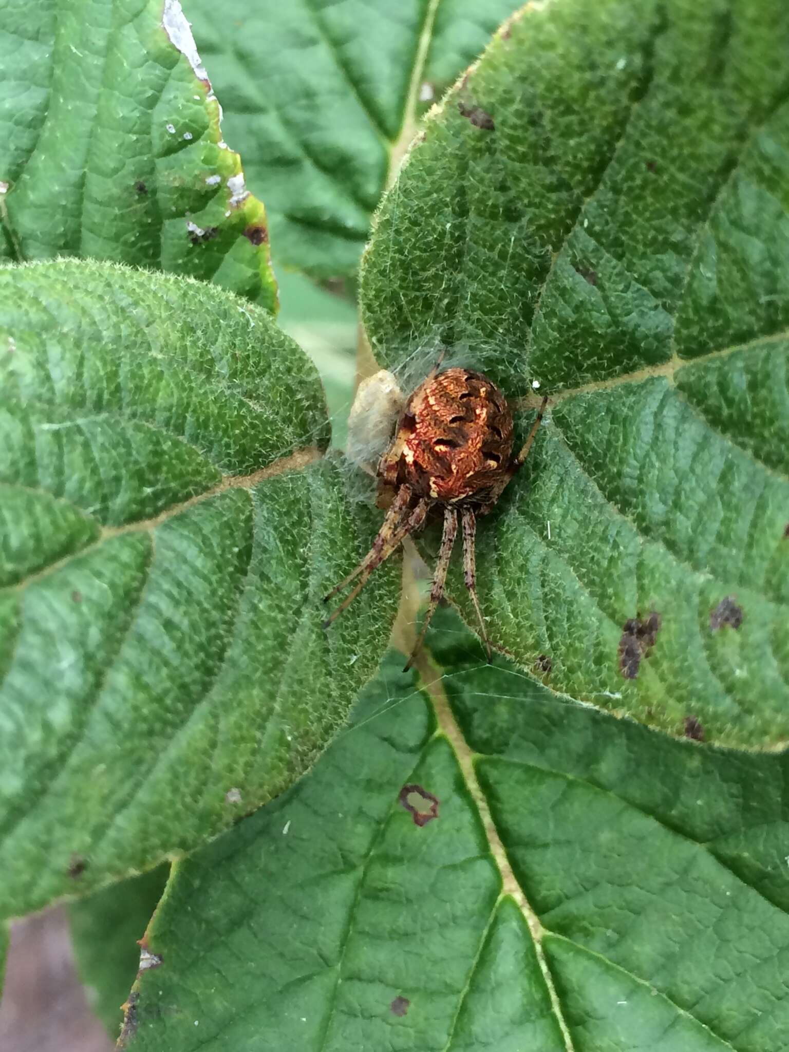
[[[115,1040],[123,1023],[123,1005],[138,969],[157,967],[156,957],[140,953],[145,929],[162,897],[169,866],[118,881],[68,907],[72,945],[88,1003]]]

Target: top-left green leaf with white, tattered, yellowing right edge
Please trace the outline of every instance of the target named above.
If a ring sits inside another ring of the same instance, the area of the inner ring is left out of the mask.
[[[178,0],[3,0],[0,65],[0,259],[157,267],[276,308],[265,210]]]

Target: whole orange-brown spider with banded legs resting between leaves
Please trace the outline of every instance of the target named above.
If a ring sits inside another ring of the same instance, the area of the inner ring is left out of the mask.
[[[440,363],[439,363],[440,364]],[[380,566],[410,533],[420,529],[428,511],[442,508],[444,533],[430,587],[422,630],[405,666],[420,650],[430,619],[444,594],[447,567],[463,527],[463,570],[473,603],[487,659],[490,642],[477,596],[474,538],[477,517],[487,514],[528,456],[548,399],[544,398],[523,449],[512,456],[512,412],[506,399],[482,372],[437,365],[414,390],[398,421],[394,439],[378,466],[376,503],[386,509],[372,547],[324,603],[359,578],[357,585],[324,622],[327,627],[357,598]]]

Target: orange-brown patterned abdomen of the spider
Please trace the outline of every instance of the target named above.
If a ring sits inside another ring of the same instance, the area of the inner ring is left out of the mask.
[[[440,504],[484,513],[511,473],[512,414],[482,372],[452,368],[408,399],[379,467],[380,503],[400,486]]]

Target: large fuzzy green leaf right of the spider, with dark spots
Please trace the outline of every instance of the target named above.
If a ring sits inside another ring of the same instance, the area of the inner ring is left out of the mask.
[[[788,49],[777,0],[528,5],[430,118],[362,279],[406,386],[445,346],[551,397],[480,527],[495,645],[749,747],[789,740]]]

